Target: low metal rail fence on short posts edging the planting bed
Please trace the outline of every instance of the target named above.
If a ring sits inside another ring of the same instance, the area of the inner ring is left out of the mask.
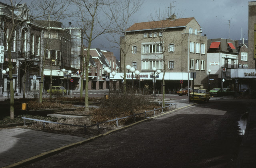
[[[32,118],[26,118],[26,117],[21,117],[22,119],[24,119],[24,125],[26,125],[26,119],[28,120],[32,120],[32,121],[39,121],[39,122],[42,122],[43,124],[43,128],[45,128],[45,123],[54,123],[54,124],[60,124],[60,125],[68,125],[68,126],[74,126],[74,127],[84,127],[84,134],[86,135],[86,129],[87,128],[90,128],[90,127],[94,127],[97,125],[97,128],[98,130],[100,129],[100,124],[103,124],[103,123],[109,123],[109,122],[112,122],[112,121],[116,121],[116,126],[118,127],[118,120],[120,119],[125,119],[125,118],[129,118],[129,117],[134,117],[134,120],[135,120],[135,117],[136,115],[141,115],[141,114],[145,114],[145,118],[147,118],[147,113],[151,112],[151,111],[154,111],[154,115],[156,115],[156,110],[159,110],[159,109],[162,109],[162,112],[163,112],[163,109],[166,108],[166,107],[169,107],[169,109],[171,108],[171,106],[175,105],[175,108],[177,108],[177,104],[170,104],[170,105],[167,105],[165,107],[160,107],[160,108],[157,108],[157,109],[153,109],[153,110],[150,110],[150,111],[146,111],[143,112],[143,113],[138,113],[138,114],[134,114],[134,115],[129,115],[129,116],[126,116],[126,117],[121,117],[121,118],[117,118],[116,119],[111,119],[111,120],[108,120],[108,121],[103,121],[103,122],[100,122],[100,123],[96,123],[96,124],[93,124],[93,125],[89,125],[87,126],[86,124],[84,125],[73,125],[73,124],[66,124],[66,123],[58,123],[58,122],[53,122],[53,121],[46,121],[46,120],[40,120],[40,119],[32,119]]]

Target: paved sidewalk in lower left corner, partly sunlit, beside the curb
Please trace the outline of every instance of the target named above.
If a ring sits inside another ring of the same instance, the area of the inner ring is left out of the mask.
[[[84,138],[30,129],[0,129],[0,167],[82,140]]]

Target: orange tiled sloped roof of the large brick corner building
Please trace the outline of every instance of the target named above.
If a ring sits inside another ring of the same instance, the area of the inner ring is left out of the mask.
[[[182,19],[175,19],[175,20],[160,20],[160,21],[134,23],[134,25],[126,29],[126,31],[160,29],[160,28],[168,28],[168,27],[181,27],[181,26],[186,26],[193,19],[195,18],[182,18]]]

